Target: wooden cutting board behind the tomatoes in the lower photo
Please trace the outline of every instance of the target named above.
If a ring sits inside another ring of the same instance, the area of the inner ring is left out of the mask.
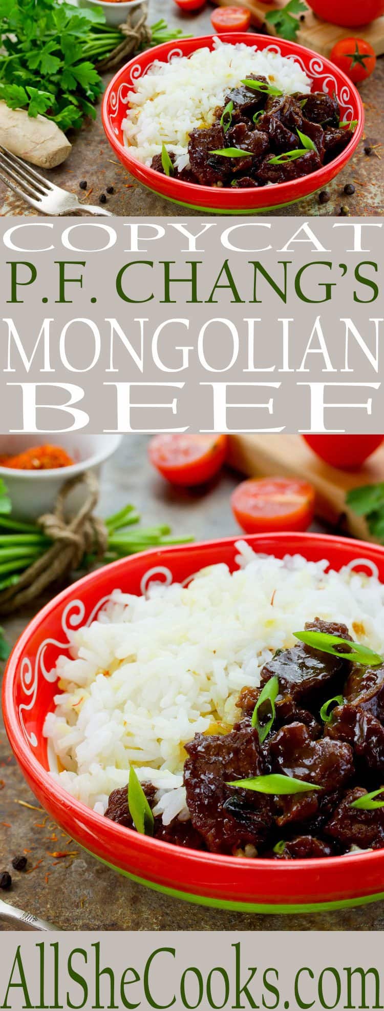
[[[353,439],[353,435],[351,439]],[[299,477],[313,484],[316,515],[343,533],[373,541],[365,520],[346,507],[346,493],[384,480],[384,443],[358,471],[337,470],[319,460],[300,436],[230,436],[229,464],[242,474]]]

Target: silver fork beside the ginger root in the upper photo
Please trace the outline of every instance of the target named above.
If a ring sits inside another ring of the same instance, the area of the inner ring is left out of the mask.
[[[0,145],[0,179],[9,189],[21,196],[42,214],[68,214],[72,210],[81,210],[87,214],[101,214],[113,217],[110,210],[104,210],[98,204],[81,203],[75,193],[69,193],[60,186],[54,186],[39,172],[32,169],[16,155]]]

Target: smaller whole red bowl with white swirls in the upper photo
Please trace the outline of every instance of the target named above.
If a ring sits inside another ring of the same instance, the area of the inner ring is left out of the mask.
[[[216,214],[249,214],[258,211],[272,210],[288,203],[301,200],[302,197],[324,189],[344,168],[354,154],[364,128],[364,108],[359,92],[355,86],[334,64],[325,57],[306,50],[295,42],[283,38],[271,41],[268,35],[258,35],[247,32],[231,32],[222,36],[226,42],[244,42],[246,45],[257,45],[259,50],[268,50],[283,57],[294,57],[310,78],[313,79],[313,91],[324,91],[338,97],[343,119],[357,119],[358,126],[347,148],[334,162],[324,166],[317,172],[312,172],[302,179],[293,179],[286,183],[276,183],[273,186],[251,187],[250,189],[217,188],[199,186],[195,183],[180,182],[171,176],[163,176],[159,172],[142,165],[130,155],[129,147],[124,144],[121,124],[127,112],[127,95],[135,82],[145,74],[154,60],[168,62],[173,56],[190,56],[204,45],[213,49],[214,35],[201,38],[182,38],[177,41],[164,42],[152,50],[147,50],[140,56],[130,60],[125,67],[115,75],[110,82],[102,105],[103,126],[107,137],[120,162],[125,165],[131,175],[135,176],[144,186],[159,193],[166,200],[172,200],[194,210],[212,211]]]

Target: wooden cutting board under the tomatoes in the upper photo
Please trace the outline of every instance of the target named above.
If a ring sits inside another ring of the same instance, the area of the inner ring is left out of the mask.
[[[247,7],[251,12],[254,27],[260,28],[263,25],[269,34],[275,35],[273,25],[264,20],[265,15],[269,10],[278,10],[280,7],[284,7],[286,0],[273,0],[273,3],[268,4],[263,3],[262,0],[214,0],[214,2],[220,7]],[[335,0],[335,4],[338,4],[338,0]],[[340,28],[337,24],[330,24],[329,21],[323,21],[316,17],[308,7],[307,13],[300,21],[296,41],[300,45],[306,45],[308,50],[314,50],[315,53],[329,57],[336,42],[340,38],[346,38],[346,36],[365,38],[373,47],[376,56],[380,56],[384,53],[384,16],[377,17],[375,21],[371,21],[371,24],[366,24],[364,27]]]

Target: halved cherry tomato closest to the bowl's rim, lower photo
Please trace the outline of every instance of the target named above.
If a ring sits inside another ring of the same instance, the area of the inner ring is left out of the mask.
[[[306,530],[314,512],[314,488],[289,477],[250,477],[231,497],[235,520],[246,534]]]

